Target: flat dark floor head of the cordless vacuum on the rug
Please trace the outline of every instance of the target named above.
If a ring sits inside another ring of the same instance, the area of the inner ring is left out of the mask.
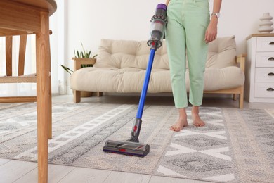
[[[150,152],[150,145],[132,141],[105,141],[103,151],[108,153],[119,153],[129,156],[144,157]]]

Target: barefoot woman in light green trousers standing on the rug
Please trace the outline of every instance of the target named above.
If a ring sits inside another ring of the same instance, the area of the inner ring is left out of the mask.
[[[188,57],[190,77],[189,102],[193,105],[192,118],[196,127],[204,126],[199,115],[204,90],[204,69],[207,44],[217,37],[217,24],[222,0],[214,0],[209,14],[209,0],[167,0],[167,53],[171,72],[174,102],[178,121],[170,127],[176,132],[188,125],[185,108],[188,106],[185,87],[185,61]]]

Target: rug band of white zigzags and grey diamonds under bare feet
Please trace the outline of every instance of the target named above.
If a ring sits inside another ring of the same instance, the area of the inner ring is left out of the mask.
[[[191,111],[187,110],[191,124]],[[159,175],[174,175],[210,181],[236,181],[235,166],[228,144],[226,125],[220,108],[201,108],[204,127],[189,125],[174,134],[159,163]],[[164,171],[167,169],[169,171]],[[171,171],[172,170],[172,171]]]

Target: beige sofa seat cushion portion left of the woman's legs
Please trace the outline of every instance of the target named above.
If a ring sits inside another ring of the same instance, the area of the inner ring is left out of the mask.
[[[139,68],[82,68],[70,77],[70,86],[80,91],[133,93],[141,92],[144,78],[145,70]],[[169,70],[152,70],[148,92],[171,92]]]

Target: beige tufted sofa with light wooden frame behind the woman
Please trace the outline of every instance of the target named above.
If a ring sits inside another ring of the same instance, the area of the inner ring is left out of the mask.
[[[150,48],[146,41],[102,39],[93,67],[81,68],[70,77],[74,102],[80,102],[79,91],[141,92],[149,53]],[[234,99],[236,94],[240,94],[242,108],[244,60],[245,55],[236,56],[235,36],[220,37],[211,42],[204,72],[204,93],[234,94]],[[186,84],[189,89],[188,70]],[[172,91],[167,47],[164,42],[155,53],[148,93],[165,92]]]

